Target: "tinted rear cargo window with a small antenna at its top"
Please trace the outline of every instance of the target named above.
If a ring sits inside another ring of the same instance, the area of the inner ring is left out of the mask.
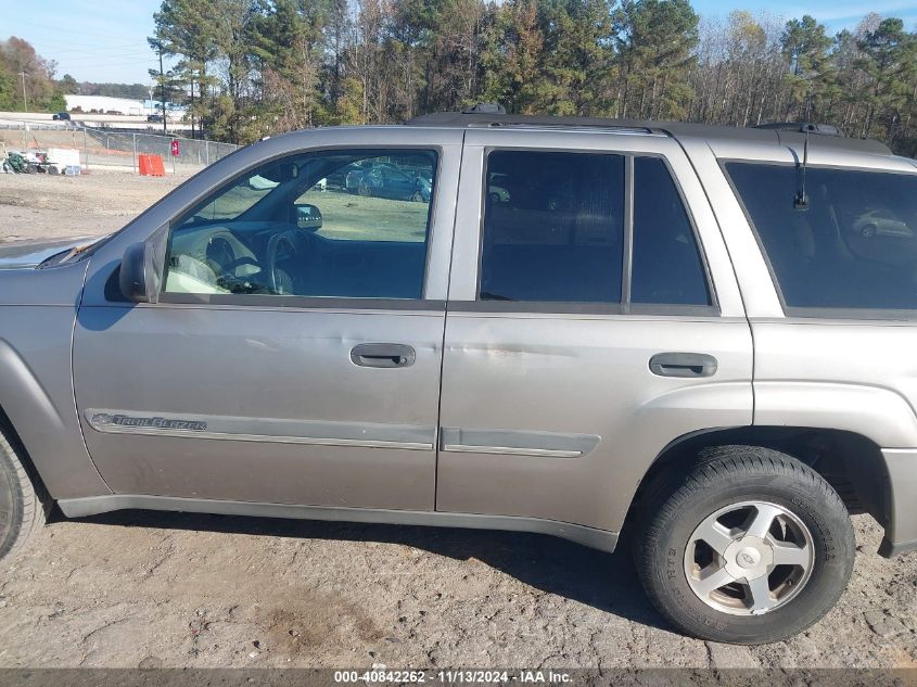
[[[790,307],[917,308],[917,175],[729,163]]]

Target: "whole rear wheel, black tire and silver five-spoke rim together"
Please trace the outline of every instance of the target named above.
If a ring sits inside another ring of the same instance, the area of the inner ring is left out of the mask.
[[[790,456],[721,447],[648,495],[638,572],[653,605],[687,634],[779,641],[824,616],[846,587],[850,516],[837,492]]]

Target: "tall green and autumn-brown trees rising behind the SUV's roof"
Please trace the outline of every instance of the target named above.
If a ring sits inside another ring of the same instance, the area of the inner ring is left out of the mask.
[[[750,126],[812,120],[917,154],[917,33],[867,15],[829,35],[688,0],[164,0],[161,81],[199,130],[290,129],[508,112]],[[151,73],[153,74],[153,73]]]

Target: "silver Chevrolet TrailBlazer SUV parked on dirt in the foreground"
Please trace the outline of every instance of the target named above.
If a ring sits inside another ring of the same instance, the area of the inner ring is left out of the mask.
[[[623,533],[674,625],[753,644],[837,601],[849,513],[917,548],[917,163],[873,141],[302,131],[4,262],[0,555],[52,501]]]

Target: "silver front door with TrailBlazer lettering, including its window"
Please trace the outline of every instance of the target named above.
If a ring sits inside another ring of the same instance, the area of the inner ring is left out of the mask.
[[[111,488],[432,510],[448,269],[434,246],[450,242],[460,143],[254,166],[170,222],[158,303],[90,295],[76,400]],[[374,165],[432,178],[432,199],[356,194],[335,174]]]

